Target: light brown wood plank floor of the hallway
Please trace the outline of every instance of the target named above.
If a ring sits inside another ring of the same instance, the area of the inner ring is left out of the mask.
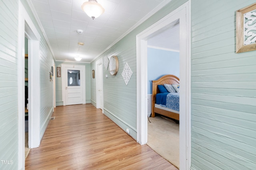
[[[92,104],[58,106],[26,170],[178,170]]]

